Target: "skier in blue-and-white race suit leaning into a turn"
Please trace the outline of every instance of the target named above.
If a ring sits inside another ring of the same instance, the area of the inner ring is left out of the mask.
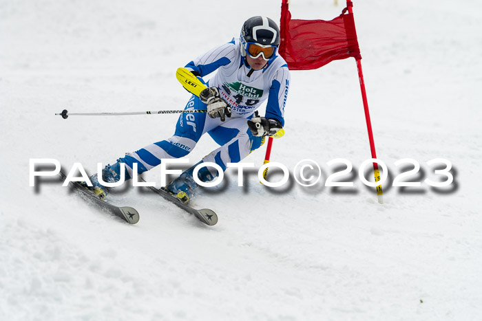
[[[160,164],[161,159],[184,157],[205,133],[220,147],[198,164],[214,162],[226,170],[227,163],[240,162],[259,148],[264,136],[274,135],[284,126],[290,73],[284,59],[277,54],[279,45],[280,30],[276,23],[264,16],[253,16],[242,25],[240,38],[233,38],[188,63],[185,67],[205,83],[207,89],[199,97],[192,96],[185,109],[204,109],[207,113],[182,113],[172,137],[126,153],[115,164],[105,166],[103,181],[118,181],[121,163],[125,164],[125,179],[130,179],[134,175],[134,163],[140,174]],[[207,83],[202,80],[216,70]],[[255,111],[266,99],[266,113],[260,117]],[[165,187],[183,203],[189,202],[197,187],[193,179],[196,165]],[[216,176],[216,168],[203,166],[198,171],[198,178],[203,182]],[[89,188],[104,199],[108,191],[97,174],[92,175],[90,181],[93,186]]]

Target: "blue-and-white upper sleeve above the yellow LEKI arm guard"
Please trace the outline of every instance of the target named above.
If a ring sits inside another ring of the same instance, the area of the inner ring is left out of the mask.
[[[221,66],[229,65],[235,58],[235,50],[236,47],[233,40],[230,43],[225,43],[209,50],[209,52],[199,56],[185,67],[195,76],[204,77]]]

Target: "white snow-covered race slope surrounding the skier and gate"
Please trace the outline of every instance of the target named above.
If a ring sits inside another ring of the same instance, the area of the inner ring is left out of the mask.
[[[29,186],[29,159],[93,171],[169,137],[177,119],[54,113],[182,109],[176,68],[250,16],[279,21],[280,2],[0,1],[0,320],[482,320],[478,1],[354,1],[377,156],[391,180],[399,159],[421,164],[419,181],[437,179],[428,160],[448,159],[448,188],[389,180],[380,205],[355,174],[355,188],[324,187],[326,162],[356,173],[370,157],[353,59],[292,72],[273,144],[273,162],[314,159],[324,179],[266,188],[250,173],[238,187],[228,170],[194,200],[218,212],[214,227],[139,188],[112,195],[140,212],[128,225],[58,182]],[[291,4],[294,19],[342,8]],[[191,164],[213,148],[202,138]],[[244,162],[261,166],[264,151]]]

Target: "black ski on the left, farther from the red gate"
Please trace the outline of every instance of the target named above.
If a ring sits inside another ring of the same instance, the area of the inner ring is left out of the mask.
[[[62,173],[62,171],[59,173],[59,176],[63,181],[65,181],[65,179],[67,178],[67,176]],[[90,203],[94,203],[96,206],[107,210],[108,212],[116,215],[116,217],[120,217],[127,223],[136,224],[139,221],[139,213],[136,209],[129,206],[115,206],[112,203],[98,199],[94,192],[82,186],[78,181],[70,181],[69,185],[72,186],[72,188],[74,188],[81,196],[81,198],[85,201],[90,201]]]

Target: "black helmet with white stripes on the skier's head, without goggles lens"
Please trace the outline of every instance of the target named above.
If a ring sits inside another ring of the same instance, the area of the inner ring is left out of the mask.
[[[241,28],[241,54],[246,56],[247,43],[259,43],[260,45],[280,45],[280,28],[275,21],[267,16],[253,16]]]

